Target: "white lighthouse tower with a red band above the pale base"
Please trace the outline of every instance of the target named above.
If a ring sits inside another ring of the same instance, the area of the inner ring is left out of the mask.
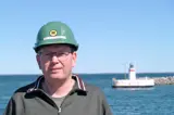
[[[129,80],[136,80],[136,72],[133,64],[129,64],[128,77],[129,77]]]

